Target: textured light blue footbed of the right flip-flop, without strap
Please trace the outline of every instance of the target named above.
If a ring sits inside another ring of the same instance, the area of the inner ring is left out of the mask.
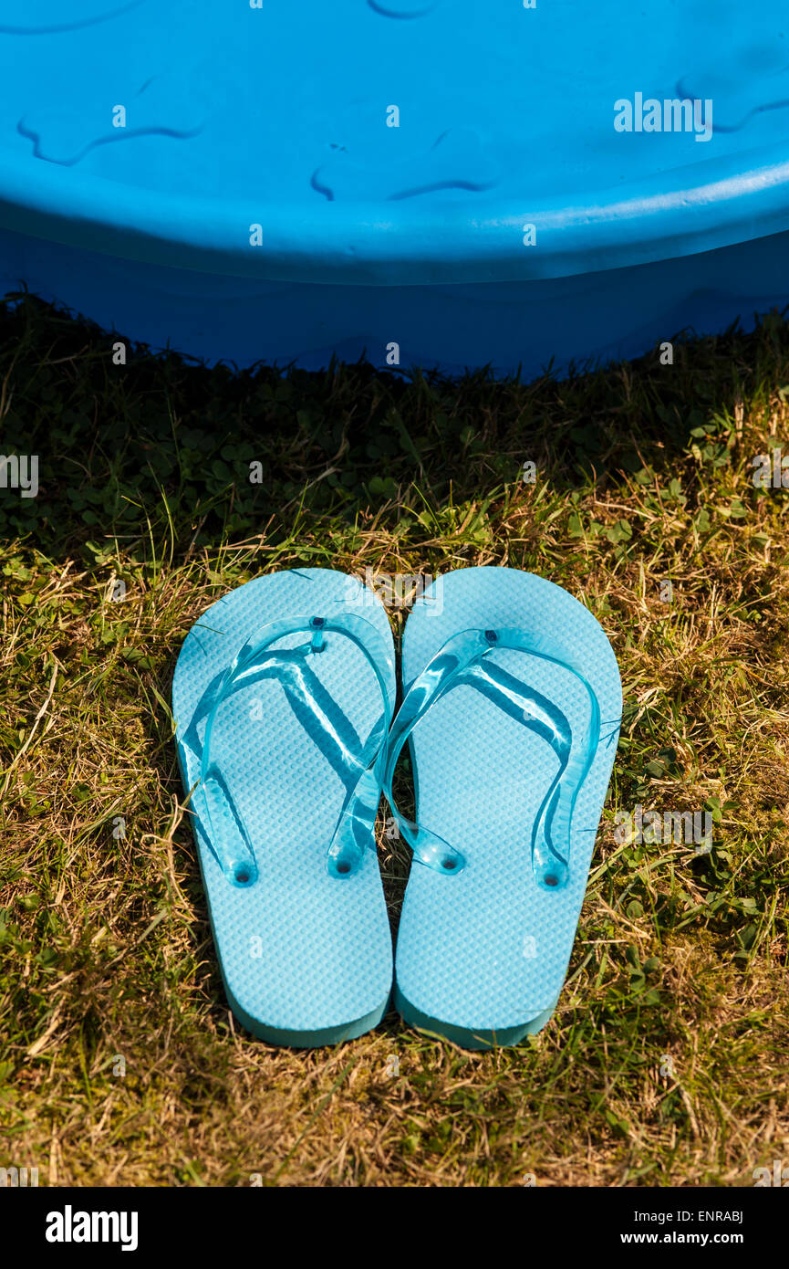
[[[520,627],[581,664],[600,706],[601,744],[572,821],[566,888],[538,887],[530,834],[558,769],[547,741],[467,685],[417,725],[411,753],[417,819],[467,859],[458,876],[414,863],[397,939],[403,1016],[468,1047],[515,1043],[543,1025],[567,972],[616,751],[622,687],[611,646],[567,591],[510,569],[464,569],[417,600],[403,638],[403,685],[441,643],[469,628]],[[516,651],[493,660],[558,706],[573,736],[589,730],[586,690],[567,670]]]

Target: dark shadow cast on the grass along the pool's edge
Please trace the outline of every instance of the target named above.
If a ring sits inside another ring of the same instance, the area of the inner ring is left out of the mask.
[[[166,541],[178,562],[311,519],[372,513],[396,532],[449,499],[500,495],[528,462],[557,492],[639,472],[668,485],[694,443],[726,462],[737,402],[780,387],[776,355],[789,355],[776,315],[751,335],[677,339],[672,365],[656,350],[528,385],[364,363],[233,373],[143,348],[115,365],[117,338],[33,297],[0,308],[3,452],[37,454],[39,468],[36,499],[0,490],[0,534],[86,561],[89,542]]]

